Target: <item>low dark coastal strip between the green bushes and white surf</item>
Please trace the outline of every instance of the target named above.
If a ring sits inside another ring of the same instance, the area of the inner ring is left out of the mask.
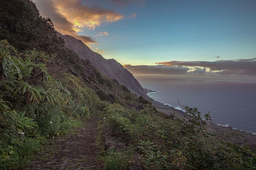
[[[148,89],[147,89],[148,90]],[[149,92],[145,91],[147,93],[150,92],[157,92],[156,90],[150,90]],[[148,99],[152,102],[153,106],[163,113],[166,113],[167,115],[170,115],[170,113],[175,113],[175,115],[179,118],[184,117],[184,111],[177,110],[173,106],[170,106],[169,104],[164,104],[159,101],[155,101],[150,96],[148,96]],[[246,145],[253,151],[256,151],[256,135],[252,134],[250,132],[241,131],[239,129],[235,129],[233,127],[230,127],[228,125],[221,125],[221,124],[215,124],[213,122],[207,122],[206,128],[211,132],[217,132],[218,134],[227,134],[227,133],[235,133],[237,134],[233,138],[230,139],[230,141],[236,142],[236,143],[246,143]]]

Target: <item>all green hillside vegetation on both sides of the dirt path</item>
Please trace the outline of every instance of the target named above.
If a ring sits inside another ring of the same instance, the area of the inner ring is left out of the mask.
[[[96,113],[125,145],[102,146],[104,169],[256,169],[255,153],[207,132],[195,108],[164,115],[80,59],[31,1],[1,1],[0,39],[0,169],[26,166]]]

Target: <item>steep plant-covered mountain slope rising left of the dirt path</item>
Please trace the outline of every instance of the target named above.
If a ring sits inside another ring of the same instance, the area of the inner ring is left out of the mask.
[[[100,74],[56,34],[32,1],[1,0],[0,169],[20,169],[46,139],[67,134],[108,104],[152,108]]]

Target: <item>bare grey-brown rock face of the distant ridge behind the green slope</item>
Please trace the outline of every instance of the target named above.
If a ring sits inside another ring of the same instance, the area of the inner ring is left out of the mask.
[[[134,76],[125,69],[119,62],[114,59],[104,59],[99,53],[93,52],[88,46],[86,46],[81,40],[72,36],[58,34],[64,39],[65,45],[72,51],[76,52],[81,59],[88,59],[92,62],[100,73],[115,78],[120,84],[128,87],[131,92],[138,96],[147,97],[140,83]]]

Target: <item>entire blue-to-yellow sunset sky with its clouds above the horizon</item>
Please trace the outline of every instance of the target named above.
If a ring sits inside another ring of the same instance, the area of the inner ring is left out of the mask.
[[[256,76],[255,0],[33,1],[57,31],[133,73]]]

